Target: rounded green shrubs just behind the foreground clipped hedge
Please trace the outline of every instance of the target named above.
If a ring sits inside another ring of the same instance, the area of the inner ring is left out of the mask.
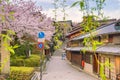
[[[12,57],[11,66],[26,66],[26,67],[39,67],[40,66],[40,56],[31,55],[29,58],[25,59],[23,56]]]

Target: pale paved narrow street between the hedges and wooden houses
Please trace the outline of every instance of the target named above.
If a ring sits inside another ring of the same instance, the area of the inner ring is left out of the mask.
[[[60,55],[52,56],[47,64],[43,80],[98,80],[82,71],[72,67],[67,60],[62,60]]]

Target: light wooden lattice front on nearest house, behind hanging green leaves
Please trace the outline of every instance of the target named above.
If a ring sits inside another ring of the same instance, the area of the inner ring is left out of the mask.
[[[105,63],[108,61],[109,64],[111,64],[111,67],[104,66],[104,74],[110,80],[116,80],[116,66],[115,66],[116,61],[115,61],[115,59],[116,59],[115,56],[112,56],[112,55],[100,54],[100,56],[99,56],[99,61],[101,63]],[[99,70],[100,70],[100,68],[99,68]]]

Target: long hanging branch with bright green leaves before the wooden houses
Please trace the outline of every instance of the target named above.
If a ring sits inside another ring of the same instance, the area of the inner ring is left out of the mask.
[[[93,2],[95,4],[91,5],[90,2]],[[80,11],[84,15],[83,16],[84,20],[81,26],[83,27],[83,33],[90,33],[90,37],[84,38],[83,43],[88,48],[92,46],[92,50],[94,52],[95,58],[98,64],[100,64],[100,77],[102,80],[107,80],[104,75],[104,66],[107,66],[108,68],[110,68],[111,64],[109,64],[108,61],[106,61],[105,63],[102,63],[98,60],[95,52],[96,52],[97,46],[102,45],[102,43],[95,40],[96,36],[93,33],[96,30],[96,28],[100,26],[99,23],[96,22],[96,20],[99,20],[99,19],[104,20],[103,13],[101,12],[104,4],[105,4],[105,0],[79,0],[74,2],[71,7],[79,5]],[[97,15],[96,15],[96,12],[98,13]],[[86,49],[84,49],[83,51],[86,52]]]

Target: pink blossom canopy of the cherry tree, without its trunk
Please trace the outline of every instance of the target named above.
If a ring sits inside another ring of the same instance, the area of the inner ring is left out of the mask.
[[[34,2],[13,0],[11,3],[3,1],[1,5],[4,6],[4,11],[0,11],[2,15],[0,30],[13,30],[19,38],[25,33],[37,38],[38,32],[44,31],[46,39],[51,39],[54,33],[53,21],[50,17],[42,14],[42,8],[36,6]]]

